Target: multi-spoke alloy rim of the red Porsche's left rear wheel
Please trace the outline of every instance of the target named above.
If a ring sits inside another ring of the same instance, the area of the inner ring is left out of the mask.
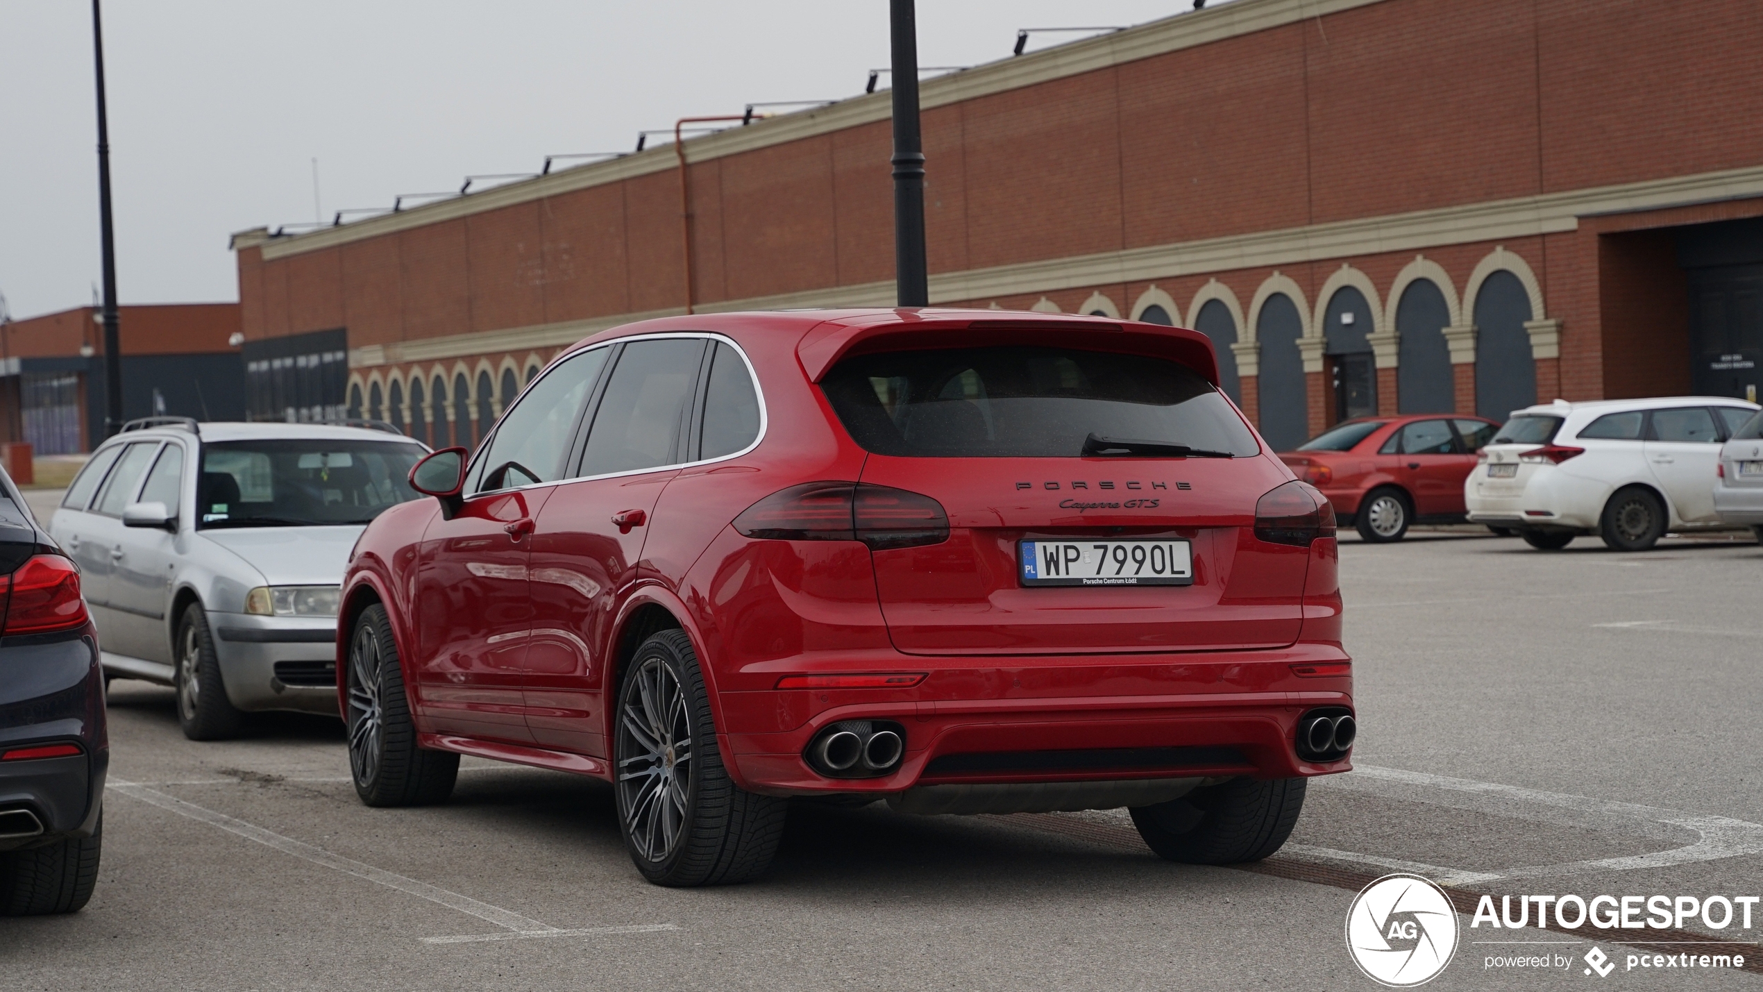
[[[631,844],[651,863],[679,846],[691,784],[691,717],[679,677],[659,657],[642,663],[619,714],[619,805]]]

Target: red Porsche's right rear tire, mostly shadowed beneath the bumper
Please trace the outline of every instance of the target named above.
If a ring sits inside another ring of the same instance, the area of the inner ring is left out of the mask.
[[[1132,807],[1139,837],[1167,862],[1236,865],[1280,849],[1305,809],[1305,779],[1231,779]]]

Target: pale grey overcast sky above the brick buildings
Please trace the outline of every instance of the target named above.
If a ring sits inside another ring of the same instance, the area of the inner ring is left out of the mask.
[[[862,93],[887,0],[109,0],[123,303],[236,300],[227,234],[390,206],[755,100]],[[1192,0],[919,0],[919,62],[1017,28],[1137,25]],[[1030,49],[1081,35],[1037,35]],[[90,9],[0,0],[0,294],[14,319],[99,282]],[[934,164],[933,164],[934,167]]]

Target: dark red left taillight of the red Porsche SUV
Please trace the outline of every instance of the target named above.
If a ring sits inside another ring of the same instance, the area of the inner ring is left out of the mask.
[[[920,493],[859,483],[804,483],[779,490],[735,518],[746,537],[862,541],[874,550],[948,539],[943,504]]]

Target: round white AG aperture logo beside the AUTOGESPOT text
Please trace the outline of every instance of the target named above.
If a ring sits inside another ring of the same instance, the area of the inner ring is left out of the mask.
[[[1384,876],[1347,909],[1347,951],[1372,981],[1425,985],[1456,953],[1456,909],[1442,888],[1419,876]]]

